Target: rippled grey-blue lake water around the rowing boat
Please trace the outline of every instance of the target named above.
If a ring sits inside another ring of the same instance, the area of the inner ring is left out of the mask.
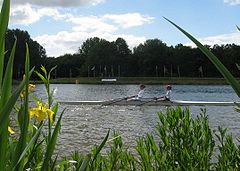
[[[81,85],[53,84],[55,101],[68,100],[109,100],[138,92],[138,85]],[[46,99],[43,85],[37,85],[35,94]],[[164,94],[161,85],[147,85],[145,97],[156,97]],[[197,86],[174,85],[172,98],[178,100],[203,101],[239,101],[230,86]],[[61,105],[66,108],[62,120],[62,129],[58,138],[58,151],[69,155],[74,150],[87,153],[94,144],[100,144],[108,129],[117,130],[127,146],[147,132],[154,132],[158,122],[157,112],[166,111],[163,106],[90,106]],[[203,107],[190,107],[196,117]],[[234,137],[240,136],[240,114],[233,107],[206,107],[210,126],[228,128]],[[112,133],[111,133],[112,135]]]

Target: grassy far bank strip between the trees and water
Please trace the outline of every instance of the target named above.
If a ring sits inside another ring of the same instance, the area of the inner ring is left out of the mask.
[[[238,79],[239,80],[239,79]],[[41,83],[40,81],[32,81]],[[99,77],[78,77],[78,78],[57,78],[51,80],[52,84],[147,84],[147,85],[227,85],[224,78],[188,78],[188,77],[119,77],[119,78],[99,78]]]

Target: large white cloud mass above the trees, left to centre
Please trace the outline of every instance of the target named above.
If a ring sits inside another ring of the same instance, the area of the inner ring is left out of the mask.
[[[102,0],[91,1],[91,3],[93,2],[100,3]],[[55,57],[77,52],[82,42],[91,37],[99,37],[108,41],[115,41],[118,37],[122,37],[127,41],[129,47],[133,48],[139,43],[143,43],[146,38],[124,34],[124,30],[121,29],[139,27],[153,21],[153,17],[143,16],[140,13],[73,16],[61,8],[39,7],[32,4],[15,4],[11,9],[10,24],[30,25],[38,22],[45,16],[51,17],[54,20],[60,20],[61,24],[62,22],[66,22],[67,25],[72,27],[71,30],[61,31],[52,35],[44,34],[33,38],[46,49],[48,56]]]

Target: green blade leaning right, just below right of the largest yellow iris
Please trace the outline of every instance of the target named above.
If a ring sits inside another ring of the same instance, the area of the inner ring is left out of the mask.
[[[55,145],[56,145],[56,142],[57,142],[57,137],[58,137],[58,133],[60,131],[60,127],[61,127],[61,120],[62,120],[62,115],[64,113],[65,110],[62,111],[58,121],[57,121],[57,124],[54,128],[54,131],[53,131],[53,135],[51,137],[51,140],[49,141],[49,143],[47,144],[47,151],[46,151],[46,154],[45,154],[45,158],[44,158],[44,161],[43,161],[43,165],[41,167],[41,171],[45,171],[45,170],[48,170],[49,168],[49,161],[51,159],[51,156],[53,154],[53,151],[55,149]]]

